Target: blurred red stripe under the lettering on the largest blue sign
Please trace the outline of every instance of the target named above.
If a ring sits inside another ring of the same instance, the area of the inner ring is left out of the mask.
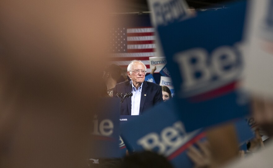
[[[212,98],[218,97],[220,95],[224,95],[226,93],[229,93],[229,92],[235,90],[236,87],[237,87],[237,81],[232,82],[232,83],[230,83],[226,86],[223,86],[221,88],[217,88],[213,91],[208,91],[206,93],[190,97],[189,99],[191,102],[200,102],[200,101],[212,99]]]

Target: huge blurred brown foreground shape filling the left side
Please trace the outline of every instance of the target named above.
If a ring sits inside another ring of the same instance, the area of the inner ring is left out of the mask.
[[[85,166],[114,6],[0,1],[0,167]]]

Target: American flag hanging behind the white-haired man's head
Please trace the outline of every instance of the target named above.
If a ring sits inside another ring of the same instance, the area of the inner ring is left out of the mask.
[[[128,67],[131,60],[141,60],[150,73],[149,57],[156,56],[153,27],[113,28],[110,37],[111,64]]]

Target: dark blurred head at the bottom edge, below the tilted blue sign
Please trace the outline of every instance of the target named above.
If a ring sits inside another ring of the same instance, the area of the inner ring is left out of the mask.
[[[125,156],[121,168],[173,168],[173,166],[163,155],[143,151]]]

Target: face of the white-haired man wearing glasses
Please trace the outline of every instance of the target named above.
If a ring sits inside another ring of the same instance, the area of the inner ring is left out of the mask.
[[[137,69],[138,70],[145,70],[145,67],[143,64],[136,62],[135,64],[132,65],[132,71],[135,71]],[[128,76],[132,79],[132,82],[135,84],[137,84],[137,83],[141,84],[145,80],[145,73],[142,74],[141,71],[139,73],[132,72],[132,75],[130,75],[129,72],[127,72],[127,73],[128,73]]]

